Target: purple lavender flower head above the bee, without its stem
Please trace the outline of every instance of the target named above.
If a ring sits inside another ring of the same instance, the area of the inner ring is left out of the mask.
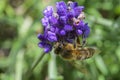
[[[54,43],[73,43],[76,37],[87,38],[90,28],[83,21],[84,6],[78,6],[77,2],[64,1],[56,2],[56,11],[48,6],[44,11],[44,18],[41,19],[44,32],[38,34],[39,47],[44,48],[48,53],[52,50]]]

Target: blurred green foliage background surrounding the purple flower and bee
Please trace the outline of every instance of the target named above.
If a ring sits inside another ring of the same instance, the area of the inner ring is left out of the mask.
[[[85,6],[87,45],[101,50],[77,67],[37,45],[42,11],[57,1],[0,0],[0,80],[120,80],[120,0],[72,0]]]

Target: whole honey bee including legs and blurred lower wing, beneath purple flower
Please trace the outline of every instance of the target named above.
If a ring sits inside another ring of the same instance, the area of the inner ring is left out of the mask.
[[[85,43],[86,42],[83,41],[83,43],[80,44],[78,38],[75,40],[75,44],[57,42],[54,46],[54,53],[59,55],[63,60],[68,61],[80,72],[88,75],[89,72],[82,61],[99,53],[100,50],[95,47],[84,47]]]

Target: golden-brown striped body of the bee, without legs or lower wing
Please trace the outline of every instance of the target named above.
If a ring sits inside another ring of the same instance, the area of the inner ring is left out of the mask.
[[[82,47],[80,44],[76,44],[76,47],[72,43],[56,43],[54,53],[60,55],[64,60],[85,60],[92,57],[96,53],[97,48],[94,47]]]

